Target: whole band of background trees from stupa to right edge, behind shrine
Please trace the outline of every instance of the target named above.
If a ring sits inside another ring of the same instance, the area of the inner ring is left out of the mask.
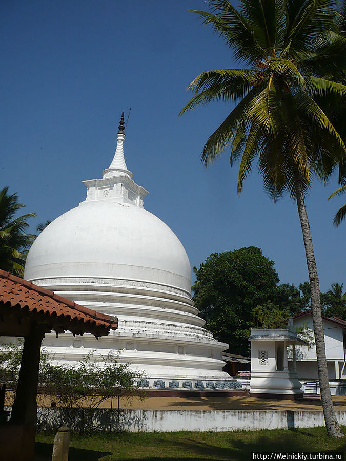
[[[191,289],[193,301],[219,341],[232,353],[249,354],[250,328],[285,328],[290,317],[310,309],[310,283],[282,283],[274,262],[260,248],[212,253],[197,269]],[[323,315],[346,320],[346,294],[342,284],[321,293]]]

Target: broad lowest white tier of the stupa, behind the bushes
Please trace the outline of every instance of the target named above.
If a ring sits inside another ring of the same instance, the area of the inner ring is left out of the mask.
[[[121,337],[116,334],[95,340],[83,336],[74,338],[65,333],[56,338],[47,334],[44,351],[53,363],[78,364],[90,355],[91,360],[102,362],[111,353],[119,363],[128,363],[138,376],[151,381],[165,380],[225,380],[230,376],[222,371],[222,350],[225,344],[215,340],[198,343],[172,341],[153,337]],[[194,385],[195,383],[193,383]],[[168,383],[167,383],[168,386]]]

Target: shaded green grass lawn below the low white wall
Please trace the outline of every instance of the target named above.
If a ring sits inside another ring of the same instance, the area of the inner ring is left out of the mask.
[[[343,427],[346,434],[346,427]],[[36,437],[37,461],[51,459],[54,434]],[[239,432],[126,432],[71,435],[69,461],[159,459],[250,460],[256,451],[342,451],[346,439],[327,437],[325,428]]]

